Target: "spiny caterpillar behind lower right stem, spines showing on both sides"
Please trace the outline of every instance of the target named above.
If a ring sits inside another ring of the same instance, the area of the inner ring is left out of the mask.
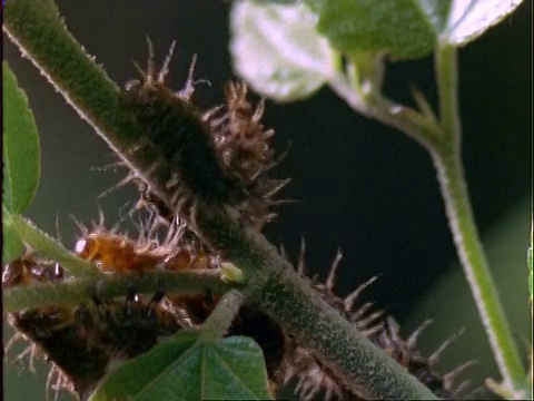
[[[301,243],[300,258],[297,265],[299,274],[304,275],[304,254],[305,244]],[[385,316],[383,311],[373,311],[373,304],[366,303],[355,309],[355,302],[360,292],[373,283],[376,277],[367,281],[358,286],[353,293],[345,299],[338,297],[334,293],[335,277],[337,268],[342,260],[338,252],[328,273],[326,282],[319,283],[317,278],[312,280],[313,287],[319,295],[335,310],[337,310],[345,319],[354,324],[355,330],[364,333],[377,346],[385,350],[395,361],[405,366],[417,380],[425,384],[437,397],[443,399],[465,398],[464,391],[466,382],[454,389],[454,378],[473,362],[467,362],[445,375],[439,375],[434,371],[438,355],[451,343],[453,339],[447,340],[433,355],[429,358],[422,356],[415,345],[418,335],[428,325],[429,321],[419,326],[407,340],[403,340],[398,334],[398,324],[390,316]],[[291,340],[291,336],[288,336]],[[296,393],[303,400],[313,400],[318,395],[325,400],[362,400],[349,392],[346,387],[338,381],[333,372],[324,366],[305,349],[298,346],[290,341],[288,352],[284,362],[285,376],[283,382],[288,383],[293,379],[297,379]]]

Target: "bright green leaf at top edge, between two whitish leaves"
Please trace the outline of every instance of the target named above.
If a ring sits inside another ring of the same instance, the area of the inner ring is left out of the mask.
[[[395,59],[429,55],[445,26],[449,1],[307,0],[317,30],[344,52],[384,52]]]

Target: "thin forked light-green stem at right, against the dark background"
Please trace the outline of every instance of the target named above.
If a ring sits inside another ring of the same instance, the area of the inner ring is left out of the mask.
[[[373,84],[373,77],[365,77],[369,62],[376,59],[354,59],[348,70],[350,80],[339,75],[329,81],[330,88],[354,110],[397,128],[428,150],[437,170],[456,252],[495,360],[505,383],[515,385],[525,373],[478,238],[462,165],[456,48],[446,45],[436,49],[439,124],[432,115],[419,114],[383,97],[376,88],[364,90],[364,82]]]

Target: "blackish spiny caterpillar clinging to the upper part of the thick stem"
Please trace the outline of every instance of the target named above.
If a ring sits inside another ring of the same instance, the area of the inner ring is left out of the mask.
[[[145,130],[147,143],[159,150],[161,163],[174,172],[166,186],[175,190],[172,206],[177,211],[196,199],[217,205],[231,203],[236,196],[245,196],[244,188],[226,174],[209,125],[190,101],[195,59],[184,90],[175,94],[165,86],[174,46],[156,76],[152,45],[148,40],[147,71],[138,68],[141,80],[126,85],[122,104]]]

